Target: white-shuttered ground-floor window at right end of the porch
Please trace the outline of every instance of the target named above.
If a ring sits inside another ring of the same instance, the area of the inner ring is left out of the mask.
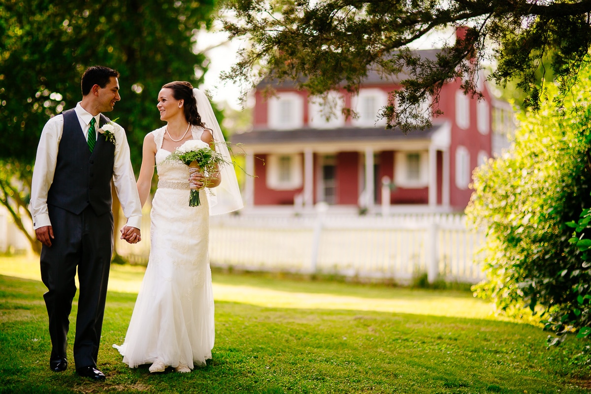
[[[428,185],[427,151],[395,152],[394,183],[400,187],[426,187]]]

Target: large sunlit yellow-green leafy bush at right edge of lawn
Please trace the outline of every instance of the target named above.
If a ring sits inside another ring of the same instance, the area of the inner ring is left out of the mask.
[[[582,70],[563,111],[545,102],[537,116],[519,115],[514,146],[475,170],[467,208],[488,229],[488,278],[475,294],[502,311],[543,311],[546,327],[561,335],[589,326],[591,242],[587,235],[573,242],[571,226],[582,212],[577,230],[589,222],[583,208],[591,206],[590,82],[590,69]],[[555,85],[547,92],[559,94]]]

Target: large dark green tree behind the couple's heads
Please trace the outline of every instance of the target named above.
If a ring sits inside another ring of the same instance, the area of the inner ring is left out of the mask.
[[[28,212],[26,172],[43,125],[80,100],[86,67],[102,64],[121,73],[121,102],[108,116],[124,126],[139,168],[145,133],[161,126],[160,87],[171,80],[202,82],[196,71],[203,75],[206,58],[193,52],[194,37],[209,26],[213,6],[213,0],[0,3],[0,201],[17,224],[20,212]]]

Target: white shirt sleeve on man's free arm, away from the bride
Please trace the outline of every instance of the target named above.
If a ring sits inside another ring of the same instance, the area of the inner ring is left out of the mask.
[[[47,193],[56,172],[57,151],[63,129],[64,117],[57,115],[47,121],[41,131],[31,180],[31,216],[33,216],[35,230],[39,227],[51,226],[47,210]]]

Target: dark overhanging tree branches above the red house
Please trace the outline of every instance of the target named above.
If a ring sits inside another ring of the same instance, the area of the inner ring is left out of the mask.
[[[591,0],[225,0],[225,30],[250,43],[228,79],[254,86],[263,77],[294,80],[312,95],[339,87],[355,92],[368,70],[401,77],[379,116],[408,132],[430,126],[422,102],[437,101],[444,83],[460,79],[480,96],[479,70],[496,58],[492,77],[512,79],[539,109],[545,87],[536,73],[551,67],[564,94],[576,81],[591,42]],[[437,58],[421,58],[410,45],[453,28],[454,44]],[[551,51],[550,64],[545,55]],[[558,96],[560,100],[562,97]],[[350,110],[346,110],[351,113]]]

